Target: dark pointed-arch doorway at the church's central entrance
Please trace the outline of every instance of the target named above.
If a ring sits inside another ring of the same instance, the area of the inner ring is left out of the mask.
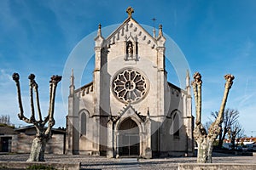
[[[119,156],[138,156],[140,136],[137,123],[126,119],[119,125]]]

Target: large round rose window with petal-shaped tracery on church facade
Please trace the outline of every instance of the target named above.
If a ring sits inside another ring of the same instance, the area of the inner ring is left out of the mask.
[[[113,94],[123,102],[137,102],[147,94],[148,83],[138,71],[126,69],[113,77]]]

